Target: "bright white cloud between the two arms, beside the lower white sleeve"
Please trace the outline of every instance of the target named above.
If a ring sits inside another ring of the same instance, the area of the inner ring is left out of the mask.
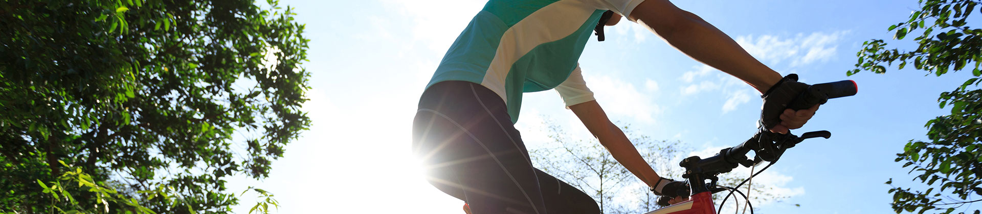
[[[641,93],[627,81],[587,73],[583,74],[583,78],[607,114],[628,116],[641,122],[651,123],[654,122],[654,114],[662,110],[654,104],[651,95]]]

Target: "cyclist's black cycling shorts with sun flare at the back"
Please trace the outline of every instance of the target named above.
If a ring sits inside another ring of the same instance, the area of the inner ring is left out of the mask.
[[[412,151],[434,187],[474,214],[600,213],[589,195],[532,167],[501,97],[479,84],[430,86],[412,121]]]

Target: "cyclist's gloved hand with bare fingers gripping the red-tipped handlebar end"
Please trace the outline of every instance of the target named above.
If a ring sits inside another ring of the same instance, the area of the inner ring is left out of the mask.
[[[797,75],[793,73],[788,74],[777,84],[771,86],[761,96],[764,105],[760,109],[760,127],[771,132],[784,134],[788,133],[788,129],[796,129],[804,125],[815,114],[818,107],[795,111],[789,109],[788,105],[801,92],[808,89],[808,86],[808,84],[798,82]]]

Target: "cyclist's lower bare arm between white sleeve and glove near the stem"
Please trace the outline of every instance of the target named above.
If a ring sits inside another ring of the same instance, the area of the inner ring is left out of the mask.
[[[607,148],[630,173],[641,179],[648,187],[653,187],[658,182],[660,178],[658,173],[655,173],[655,170],[644,161],[634,145],[627,140],[621,128],[607,118],[604,109],[600,108],[596,101],[573,105],[570,109],[576,117],[579,117],[586,129],[600,141],[600,144]]]

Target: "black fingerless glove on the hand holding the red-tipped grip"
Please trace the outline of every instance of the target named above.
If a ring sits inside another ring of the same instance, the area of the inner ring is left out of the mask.
[[[764,100],[764,105],[760,107],[760,121],[758,121],[757,126],[763,130],[769,130],[781,124],[781,114],[785,112],[794,98],[808,89],[808,86],[808,84],[798,82],[797,74],[794,73],[781,78],[781,81],[778,81],[763,96],[760,96]]]

